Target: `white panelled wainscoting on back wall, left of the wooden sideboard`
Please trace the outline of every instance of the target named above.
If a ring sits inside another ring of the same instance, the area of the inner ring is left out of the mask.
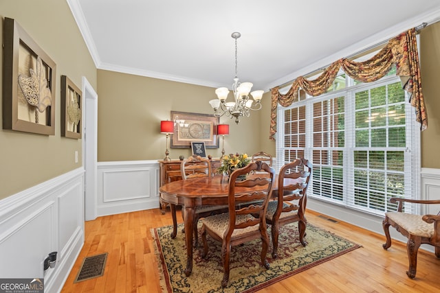
[[[159,163],[98,163],[97,215],[114,215],[159,207]]]

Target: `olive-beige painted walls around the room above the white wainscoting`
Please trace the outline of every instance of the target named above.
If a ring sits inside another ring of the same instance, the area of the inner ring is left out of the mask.
[[[208,104],[215,98],[212,88],[97,72],[66,1],[0,0],[0,16],[16,19],[57,65],[55,135],[0,130],[0,199],[80,167],[74,163],[74,152],[79,152],[81,162],[81,140],[60,136],[61,75],[67,75],[77,86],[85,75],[98,92],[98,161],[162,159],[166,146],[159,121],[169,119],[170,110],[212,113]],[[1,38],[2,32],[3,24]],[[1,58],[0,65],[3,67]],[[429,119],[428,130],[421,134],[421,166],[440,168],[439,24],[421,32],[421,67]],[[270,93],[263,97],[263,109],[252,112],[239,125],[221,117],[221,123],[230,124],[226,152],[253,154],[264,150],[275,155],[275,143],[268,138],[269,121]],[[220,148],[207,152],[219,157],[221,141]],[[181,154],[190,155],[190,149],[170,148],[172,159]]]

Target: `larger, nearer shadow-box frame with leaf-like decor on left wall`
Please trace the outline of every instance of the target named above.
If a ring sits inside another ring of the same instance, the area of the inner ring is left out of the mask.
[[[55,134],[56,64],[15,21],[3,21],[3,129]]]

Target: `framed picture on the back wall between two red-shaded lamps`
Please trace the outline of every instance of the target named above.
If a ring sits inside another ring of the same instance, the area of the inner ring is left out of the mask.
[[[174,132],[170,148],[191,148],[191,142],[203,142],[205,148],[219,148],[219,117],[209,114],[171,111]]]

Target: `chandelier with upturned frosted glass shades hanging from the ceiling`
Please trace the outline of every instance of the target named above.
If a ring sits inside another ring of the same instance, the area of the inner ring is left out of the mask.
[[[234,93],[234,102],[226,102],[228,98],[229,89],[221,87],[215,90],[218,99],[211,99],[209,104],[211,104],[214,109],[214,116],[221,117],[226,115],[230,118],[235,118],[235,123],[239,124],[240,117],[249,117],[250,110],[256,111],[261,109],[261,98],[263,97],[264,91],[253,91],[251,82],[239,82],[239,78],[236,76],[237,58],[236,58],[236,39],[240,38],[241,34],[239,32],[233,32],[232,38],[235,39],[235,78],[234,84],[232,84],[232,92]],[[254,99],[250,99],[249,93]]]

